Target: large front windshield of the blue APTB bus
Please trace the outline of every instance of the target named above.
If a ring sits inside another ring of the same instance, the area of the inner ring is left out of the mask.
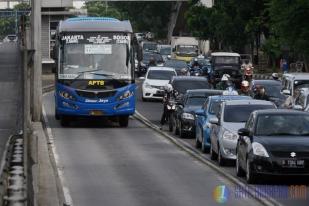
[[[59,79],[130,79],[129,41],[119,43],[113,37],[92,36],[86,41],[63,44]]]

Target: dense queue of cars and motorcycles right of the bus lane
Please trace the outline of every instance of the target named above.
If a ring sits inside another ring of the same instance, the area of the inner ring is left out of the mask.
[[[248,183],[309,174],[309,74],[257,80],[250,62],[225,52],[192,58],[187,68],[171,65],[151,66],[142,85],[143,101],[163,101],[162,130],[195,139],[218,165],[235,164]]]

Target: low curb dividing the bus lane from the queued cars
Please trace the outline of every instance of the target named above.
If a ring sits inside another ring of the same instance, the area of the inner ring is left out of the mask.
[[[199,160],[203,164],[209,166],[211,169],[213,169],[216,172],[218,172],[220,175],[224,176],[226,179],[228,179],[229,181],[231,181],[235,185],[237,185],[237,186],[239,186],[241,188],[245,188],[246,192],[253,199],[258,201],[262,205],[265,205],[265,206],[282,206],[282,204],[280,204],[279,202],[277,202],[275,199],[273,199],[271,197],[269,197],[267,199],[266,198],[262,198],[262,196],[265,197],[265,196],[267,196],[267,194],[265,194],[265,193],[258,193],[257,194],[257,191],[254,189],[253,186],[248,186],[248,185],[240,182],[240,180],[238,178],[234,177],[233,175],[224,172],[221,167],[217,166],[216,164],[214,164],[210,160],[208,160],[205,157],[203,157],[201,154],[199,154],[199,152],[197,150],[193,149],[187,143],[185,143],[183,141],[180,141],[180,140],[176,139],[175,137],[169,135],[168,133],[160,130],[160,127],[158,127],[157,125],[154,125],[153,123],[151,123],[147,118],[145,118],[138,111],[135,112],[134,117],[135,117],[135,119],[137,119],[141,123],[145,124],[146,126],[148,126],[151,129],[153,129],[155,132],[157,132],[157,133],[161,134],[162,136],[164,136],[166,139],[168,139],[169,141],[174,143],[177,147],[179,147],[180,149],[184,150],[185,152],[187,152],[189,155],[191,155],[195,159]]]

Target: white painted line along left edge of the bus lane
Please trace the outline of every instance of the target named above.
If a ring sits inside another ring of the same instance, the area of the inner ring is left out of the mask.
[[[47,118],[47,115],[46,115],[46,111],[45,111],[44,105],[42,106],[42,113],[43,113],[43,119],[44,119],[45,125],[46,125],[46,132],[47,132],[47,138],[48,138],[49,147],[52,150],[52,155],[54,157],[55,164],[56,164],[55,165],[56,166],[56,172],[57,172],[57,175],[58,175],[58,178],[59,178],[59,181],[60,181],[60,186],[61,186],[62,191],[63,191],[63,198],[64,198],[63,205],[65,205],[65,206],[73,206],[73,201],[72,201],[72,197],[70,195],[70,190],[69,190],[69,188],[65,184],[64,172],[62,171],[62,168],[59,166],[60,165],[60,163],[59,163],[59,155],[57,153],[56,145],[54,143],[55,139],[54,139],[54,136],[52,134],[52,130],[49,127],[48,118]]]

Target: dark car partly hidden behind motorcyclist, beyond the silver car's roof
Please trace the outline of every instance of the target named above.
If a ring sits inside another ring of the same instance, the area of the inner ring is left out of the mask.
[[[266,94],[269,100],[275,103],[275,105],[280,108],[284,103],[286,97],[281,94],[282,84],[278,80],[252,80],[251,91],[252,97],[254,97],[254,91],[257,85],[263,86],[265,88]]]

